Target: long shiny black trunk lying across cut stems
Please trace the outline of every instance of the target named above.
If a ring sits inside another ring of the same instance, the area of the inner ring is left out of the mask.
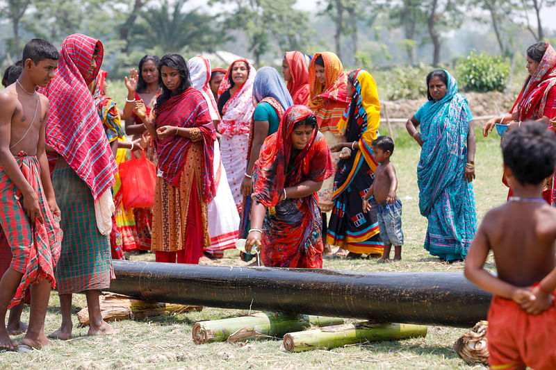
[[[460,272],[384,273],[113,261],[110,292],[146,301],[471,327],[491,295]]]

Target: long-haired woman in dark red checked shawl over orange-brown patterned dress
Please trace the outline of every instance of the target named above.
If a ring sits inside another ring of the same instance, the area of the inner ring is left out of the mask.
[[[186,61],[178,54],[161,59],[162,94],[147,117],[145,103],[135,112],[154,137],[158,176],[154,195],[152,251],[156,262],[197,264],[211,246],[207,205],[215,194],[216,139],[206,99],[191,86]]]

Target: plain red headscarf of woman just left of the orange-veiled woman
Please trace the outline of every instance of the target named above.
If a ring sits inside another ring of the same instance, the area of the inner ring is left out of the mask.
[[[301,51],[287,51],[286,63],[290,69],[291,80],[288,91],[294,104],[306,106],[309,103],[309,63],[311,58]]]

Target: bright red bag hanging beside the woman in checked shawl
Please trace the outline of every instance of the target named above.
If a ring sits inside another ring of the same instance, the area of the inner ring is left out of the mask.
[[[122,205],[129,208],[149,208],[154,204],[154,187],[156,187],[156,166],[145,158],[133,158],[120,163],[122,179]]]

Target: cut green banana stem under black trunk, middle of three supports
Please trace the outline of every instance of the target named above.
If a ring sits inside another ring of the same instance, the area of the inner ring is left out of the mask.
[[[329,326],[343,323],[338,317],[309,316],[306,314],[286,315],[273,312],[257,312],[242,317],[200,321],[195,323],[191,335],[195,344],[211,342],[237,342],[259,337],[283,337],[291,331],[314,326]]]

